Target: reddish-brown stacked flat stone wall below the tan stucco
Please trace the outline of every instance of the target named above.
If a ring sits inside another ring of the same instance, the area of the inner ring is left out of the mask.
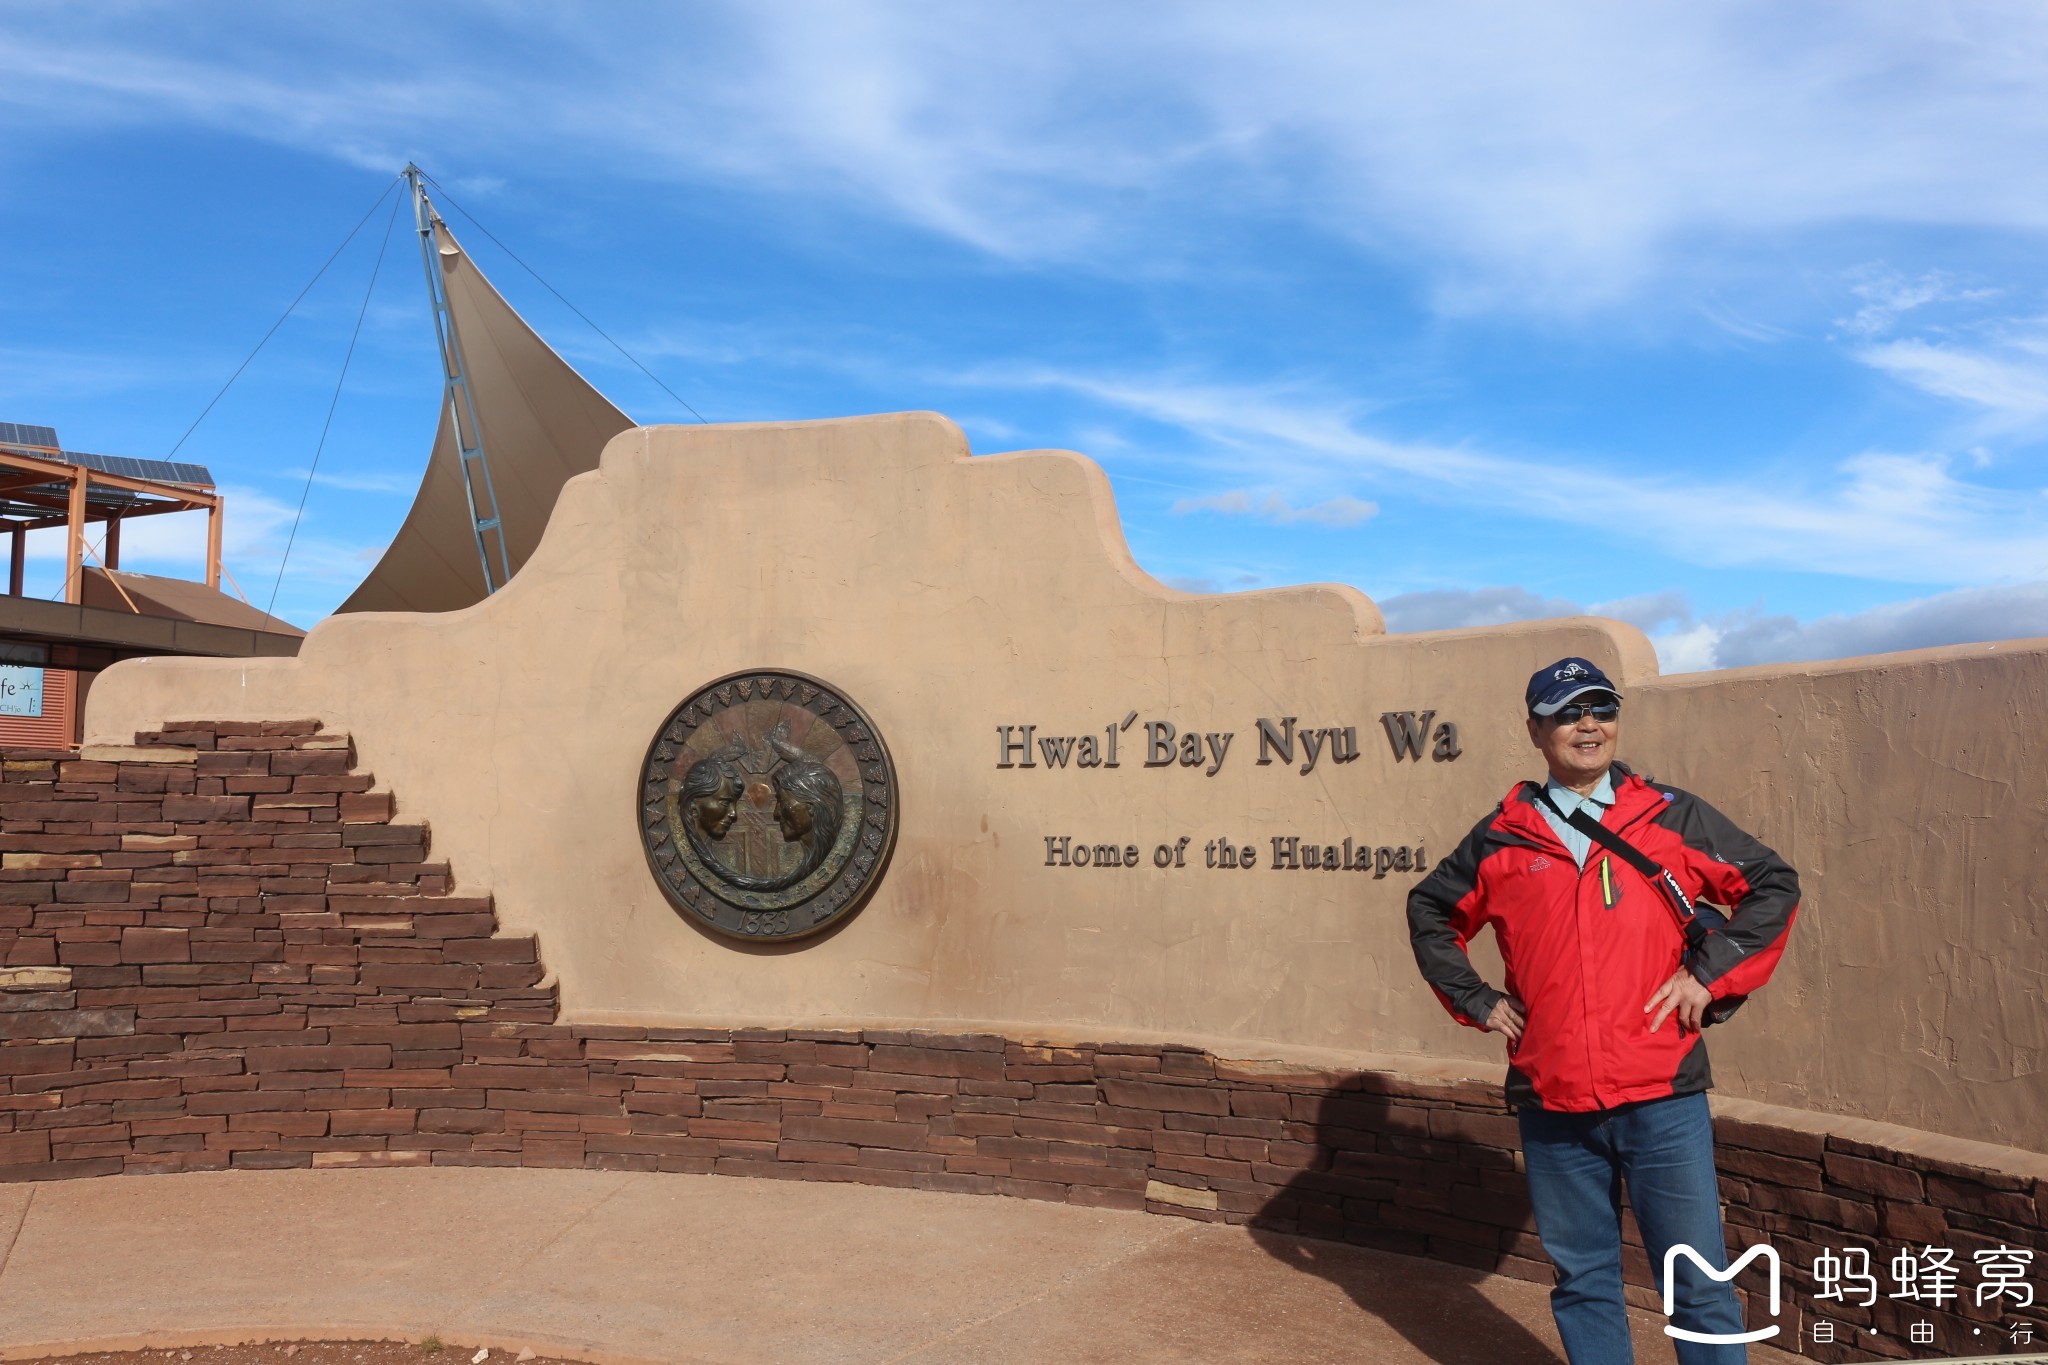
[[[1550,1279],[1493,1085],[985,1033],[561,1025],[535,939],[453,894],[426,825],[395,819],[344,735],[184,724],[0,763],[0,1181],[397,1164],[858,1181]],[[1731,1246],[1784,1257],[1774,1345],[1903,1357],[1915,1320],[1954,1353],[2005,1345],[2013,1322],[2048,1340],[2040,1306],[1972,1293],[1972,1252],[1997,1246],[2032,1250],[2048,1291],[2048,1183],[1810,1128],[1724,1117],[1716,1136]],[[1653,1306],[1628,1236],[1630,1297]],[[1898,1248],[1954,1250],[1958,1300],[1831,1304],[1843,1345],[1804,1340],[1815,1257],[1853,1246],[1886,1291]]]

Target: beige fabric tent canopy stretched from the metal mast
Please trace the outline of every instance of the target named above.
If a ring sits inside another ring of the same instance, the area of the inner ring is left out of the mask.
[[[512,573],[541,542],[561,485],[598,467],[633,420],[569,368],[492,289],[449,225],[434,223],[449,313],[469,368]],[[496,546],[494,546],[496,555]],[[481,602],[483,565],[449,405],[406,524],[340,612],[453,612]]]

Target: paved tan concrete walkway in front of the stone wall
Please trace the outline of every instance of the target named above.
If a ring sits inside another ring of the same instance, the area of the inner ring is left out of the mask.
[[[0,1359],[430,1332],[600,1365],[1563,1359],[1538,1285],[1024,1199],[469,1169],[0,1187]],[[1636,1342],[1671,1359],[1649,1314]]]

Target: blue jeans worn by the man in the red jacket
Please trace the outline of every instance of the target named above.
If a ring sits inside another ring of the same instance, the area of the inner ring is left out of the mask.
[[[1706,1095],[1673,1095],[1620,1109],[1522,1109],[1522,1160],[1536,1232],[1556,1265],[1550,1314],[1571,1365],[1632,1365],[1622,1304],[1622,1181],[1663,1289],[1665,1248],[1683,1242],[1716,1271],[1729,1269],[1714,1179],[1714,1126]],[[1679,1254],[1671,1322],[1694,1332],[1739,1334],[1743,1314],[1729,1281]],[[1681,1365],[1741,1365],[1741,1345],[1673,1340]]]

